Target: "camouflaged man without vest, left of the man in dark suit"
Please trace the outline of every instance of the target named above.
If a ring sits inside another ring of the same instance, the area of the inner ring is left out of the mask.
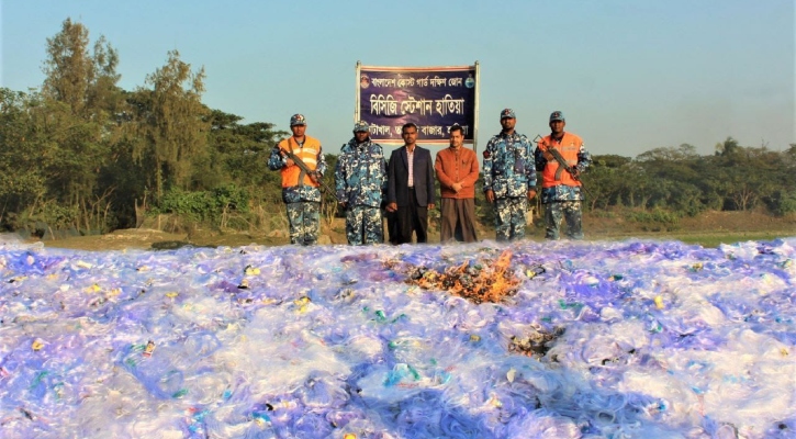
[[[370,142],[367,122],[354,125],[354,138],[340,148],[335,168],[337,201],[346,210],[346,236],[352,246],[384,241],[382,194],[386,164],[381,145]]]

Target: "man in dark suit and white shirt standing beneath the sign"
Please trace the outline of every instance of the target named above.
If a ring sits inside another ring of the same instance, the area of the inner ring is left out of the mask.
[[[397,244],[427,241],[428,210],[434,209],[434,161],[428,149],[417,142],[417,125],[401,128],[404,146],[392,151],[388,169],[386,210],[396,213]]]

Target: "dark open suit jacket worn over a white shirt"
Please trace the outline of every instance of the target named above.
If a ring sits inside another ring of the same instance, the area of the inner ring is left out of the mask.
[[[414,185],[417,204],[425,207],[436,203],[434,191],[434,161],[428,149],[415,146],[414,162]],[[390,156],[390,169],[388,170],[386,201],[396,203],[400,207],[410,204],[408,189],[410,166],[406,155],[406,146],[392,151]]]

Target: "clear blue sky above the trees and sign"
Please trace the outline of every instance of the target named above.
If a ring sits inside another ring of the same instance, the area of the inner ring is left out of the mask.
[[[71,18],[119,50],[122,88],[178,49],[204,66],[205,104],[285,131],[303,113],[333,154],[351,137],[357,60],[478,60],[479,149],[503,108],[529,137],[563,111],[592,154],[796,143],[795,0],[0,1],[2,87],[40,87],[46,38]]]

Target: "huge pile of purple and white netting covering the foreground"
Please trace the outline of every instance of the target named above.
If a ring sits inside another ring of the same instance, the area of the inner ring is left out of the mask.
[[[792,438],[795,246],[7,240],[0,436]],[[522,285],[497,304],[385,263],[506,248]],[[545,356],[509,351],[557,328]]]

